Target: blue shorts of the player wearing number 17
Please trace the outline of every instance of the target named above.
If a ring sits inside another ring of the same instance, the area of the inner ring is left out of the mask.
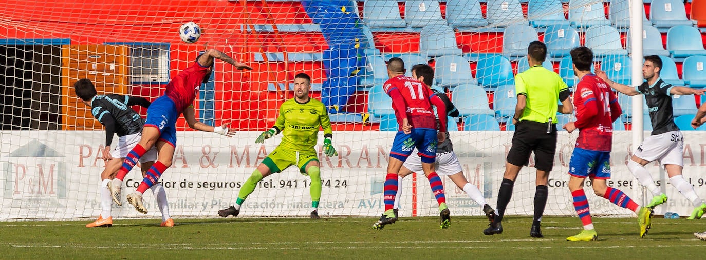
[[[390,157],[400,161],[406,161],[412,154],[414,147],[419,151],[419,157],[423,163],[433,163],[436,161],[436,130],[426,128],[414,128],[409,134],[397,132],[393,141],[393,149],[390,150]]]

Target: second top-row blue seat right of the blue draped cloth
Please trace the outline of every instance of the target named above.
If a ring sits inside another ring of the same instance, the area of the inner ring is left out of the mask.
[[[437,23],[446,24],[446,20],[441,18],[441,8],[436,0],[405,1],[405,21],[414,28]]]

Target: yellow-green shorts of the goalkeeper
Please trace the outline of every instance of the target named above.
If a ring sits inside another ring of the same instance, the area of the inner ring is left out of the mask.
[[[287,167],[296,165],[299,168],[299,173],[306,175],[306,164],[309,161],[318,161],[316,157],[316,151],[295,151],[293,149],[288,149],[285,147],[277,147],[275,151],[268,154],[263,160],[270,172],[279,173],[284,171]]]

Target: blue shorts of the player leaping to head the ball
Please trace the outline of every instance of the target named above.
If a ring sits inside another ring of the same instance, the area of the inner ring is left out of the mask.
[[[173,147],[177,145],[177,106],[174,101],[167,96],[162,96],[152,101],[147,109],[147,120],[145,127],[157,128],[160,130],[160,141],[167,142]]]

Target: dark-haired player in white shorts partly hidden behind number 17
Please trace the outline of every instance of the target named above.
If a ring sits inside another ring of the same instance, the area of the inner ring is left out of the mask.
[[[412,78],[424,82],[424,84],[429,87],[433,82],[434,71],[429,65],[417,64],[412,66]],[[432,89],[432,91],[443,100],[446,106],[446,114],[451,117],[457,117],[458,111],[448,97],[446,97],[446,94],[438,92],[436,89]],[[446,140],[437,144],[435,168],[438,175],[448,176],[456,186],[468,194],[469,198],[473,199],[479,205],[483,205],[484,213],[489,218],[489,221],[493,221],[495,210],[486,202],[483,193],[478,190],[478,187],[469,183],[464,177],[461,163],[453,152],[453,143],[451,143],[449,139],[448,132],[446,132]],[[421,157],[419,157],[417,151],[412,151],[412,155],[407,158],[407,161],[402,165],[402,169],[400,169],[400,173],[398,173],[397,182],[399,184],[397,185],[397,196],[395,196],[395,205],[393,206],[395,216],[397,216],[397,209],[400,206],[402,178],[405,178],[405,176],[411,173],[419,173],[421,170]]]

